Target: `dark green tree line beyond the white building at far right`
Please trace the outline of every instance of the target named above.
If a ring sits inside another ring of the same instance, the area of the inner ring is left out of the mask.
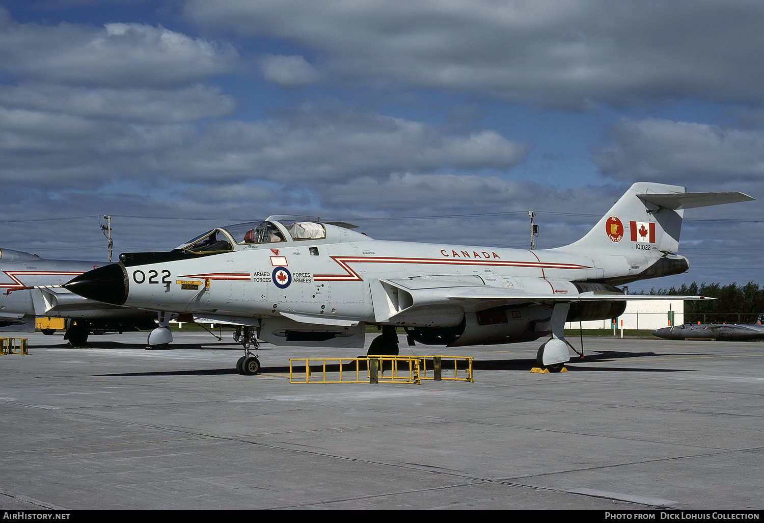
[[[764,287],[753,281],[745,285],[693,282],[667,289],[653,287],[642,294],[717,298],[685,301],[685,323],[756,323],[759,314],[764,313]]]

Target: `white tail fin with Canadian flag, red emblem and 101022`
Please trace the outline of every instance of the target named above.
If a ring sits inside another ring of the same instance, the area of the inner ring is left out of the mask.
[[[747,194],[687,193],[678,185],[633,184],[586,236],[564,249],[603,254],[655,251],[655,258],[679,249],[685,209],[754,200]]]

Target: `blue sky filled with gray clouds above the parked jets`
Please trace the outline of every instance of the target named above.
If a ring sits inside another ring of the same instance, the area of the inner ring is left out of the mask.
[[[762,272],[760,0],[0,0],[0,248],[105,259],[275,213],[537,249],[636,181],[687,274]]]

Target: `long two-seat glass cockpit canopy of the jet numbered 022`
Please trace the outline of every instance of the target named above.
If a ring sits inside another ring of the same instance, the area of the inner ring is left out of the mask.
[[[316,221],[270,219],[263,222],[235,223],[204,232],[196,238],[179,245],[177,249],[193,254],[211,254],[241,250],[248,245],[277,243],[293,240],[318,240],[326,238],[326,228]]]

